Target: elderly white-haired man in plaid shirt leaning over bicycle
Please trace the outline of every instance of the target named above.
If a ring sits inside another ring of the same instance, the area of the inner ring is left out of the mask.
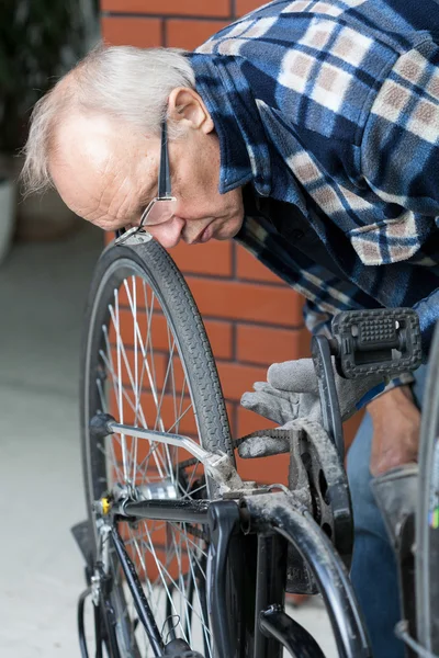
[[[412,306],[427,356],[439,317],[438,34],[435,0],[274,0],[191,54],[99,47],[35,107],[24,178],[105,230],[137,226],[157,196],[166,122],[177,201],[147,222],[161,245],[237,237],[270,266],[274,231],[313,331],[339,310]],[[363,398],[349,456],[352,581],[378,658],[403,647],[369,485],[416,461],[416,379]],[[296,364],[256,388],[243,404],[278,419],[279,398],[301,390]],[[297,413],[286,400],[283,422]]]

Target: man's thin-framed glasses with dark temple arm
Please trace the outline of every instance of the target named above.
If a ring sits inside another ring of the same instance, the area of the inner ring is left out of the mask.
[[[160,167],[158,172],[158,196],[148,203],[142,214],[140,225],[128,230],[116,230],[115,245],[123,245],[136,232],[145,232],[144,228],[165,224],[173,217],[177,198],[171,194],[171,177],[169,173],[168,131],[166,121],[161,124]]]

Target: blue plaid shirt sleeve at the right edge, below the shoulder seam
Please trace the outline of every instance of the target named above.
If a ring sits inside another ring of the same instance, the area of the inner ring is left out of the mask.
[[[429,36],[397,59],[374,100],[361,173],[380,198],[402,208],[398,235],[390,239],[408,250],[421,247],[428,235],[439,261],[439,47]],[[426,359],[439,320],[439,291],[414,308]]]

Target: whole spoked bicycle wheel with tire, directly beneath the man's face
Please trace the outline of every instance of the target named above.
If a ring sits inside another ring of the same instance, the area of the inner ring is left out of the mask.
[[[110,247],[94,273],[86,318],[81,390],[87,504],[106,492],[136,499],[217,497],[200,463],[182,449],[128,435],[93,439],[99,412],[119,422],[182,433],[233,458],[216,366],[193,298],[168,253],[154,240]],[[184,463],[190,464],[189,466]],[[119,523],[164,642],[184,639],[210,658],[207,536],[202,525]],[[130,591],[113,556],[112,604],[122,656],[149,657]],[[233,613],[233,611],[230,611]]]

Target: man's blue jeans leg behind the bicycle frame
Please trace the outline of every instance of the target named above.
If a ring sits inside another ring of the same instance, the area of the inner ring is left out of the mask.
[[[426,372],[423,365],[415,373],[414,394],[419,407]],[[369,631],[373,658],[404,658],[404,645],[394,634],[401,620],[396,563],[370,487],[371,444],[372,419],[367,413],[348,453],[354,521],[351,581]]]

